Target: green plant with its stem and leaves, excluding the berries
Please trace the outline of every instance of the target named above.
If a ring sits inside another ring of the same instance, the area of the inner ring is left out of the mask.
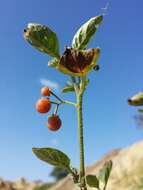
[[[72,175],[74,183],[81,190],[87,190],[88,186],[105,190],[112,169],[112,161],[108,161],[100,170],[98,177],[96,175],[86,176],[84,164],[83,96],[89,84],[89,73],[92,70],[99,70],[97,60],[100,55],[99,48],[87,49],[87,45],[98,30],[102,20],[103,15],[99,15],[83,24],[74,35],[71,47],[66,46],[62,55],[59,52],[57,35],[49,27],[41,24],[28,24],[27,29],[24,30],[24,37],[32,46],[53,57],[48,63],[49,67],[53,67],[63,74],[70,76],[70,81],[66,83],[62,92],[74,92],[76,103],[62,100],[52,91],[50,91],[49,101],[56,106],[54,111],[54,115],[56,116],[59,107],[63,104],[72,105],[76,108],[78,116],[80,168],[78,170],[72,167],[70,158],[57,149],[33,148],[33,152],[40,160],[66,169]],[[52,97],[55,97],[56,100],[51,100]]]

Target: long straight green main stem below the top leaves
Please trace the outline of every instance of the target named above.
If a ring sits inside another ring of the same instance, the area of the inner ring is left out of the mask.
[[[80,148],[80,183],[81,183],[81,190],[87,190],[86,181],[85,181],[85,166],[84,166],[83,114],[82,114],[83,92],[77,94],[77,104],[78,104],[77,116],[78,116],[78,131],[79,131],[79,148]]]

